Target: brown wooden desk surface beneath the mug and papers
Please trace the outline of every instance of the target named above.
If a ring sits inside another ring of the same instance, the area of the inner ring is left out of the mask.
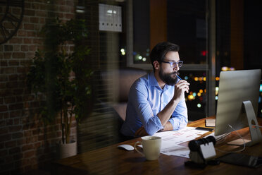
[[[259,119],[262,123],[261,119]],[[204,119],[189,123],[188,126],[204,126]],[[249,134],[248,128],[240,131],[244,137]],[[230,134],[225,141],[236,138],[234,133]],[[98,150],[85,152],[74,157],[60,159],[54,162],[53,174],[262,174],[262,167],[252,169],[233,164],[220,162],[219,165],[208,165],[204,169],[185,166],[189,159],[161,154],[157,160],[147,161],[144,157],[134,151],[119,150],[118,145],[134,145],[137,138],[123,143],[111,145]],[[238,150],[242,147],[217,143],[220,150]],[[247,147],[242,153],[247,155],[259,155],[262,157],[262,143]],[[218,156],[225,153],[217,152]]]

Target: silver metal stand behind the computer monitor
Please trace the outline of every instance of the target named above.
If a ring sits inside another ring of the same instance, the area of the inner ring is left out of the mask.
[[[256,114],[254,112],[253,105],[250,101],[245,101],[243,102],[244,104],[244,110],[246,111],[247,114],[247,122],[249,123],[249,132],[251,135],[251,140],[244,139],[246,146],[251,146],[256,143],[261,142],[262,140],[262,135],[261,131],[258,127],[258,121],[256,120]],[[255,126],[254,126],[255,125]],[[233,140],[229,143],[229,145],[243,145],[243,140],[242,138],[239,138],[237,140]]]

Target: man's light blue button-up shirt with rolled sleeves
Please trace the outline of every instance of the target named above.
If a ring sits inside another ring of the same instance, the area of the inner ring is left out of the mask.
[[[162,111],[174,96],[174,85],[158,85],[151,72],[139,78],[131,86],[128,95],[126,118],[121,128],[123,135],[135,137],[135,132],[144,126],[146,133],[154,133],[163,129],[157,114]],[[187,126],[187,105],[185,99],[180,101],[168,120],[174,130]]]

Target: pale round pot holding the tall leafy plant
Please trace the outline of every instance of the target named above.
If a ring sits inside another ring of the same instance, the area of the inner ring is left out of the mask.
[[[57,144],[56,155],[58,159],[63,159],[66,157],[77,155],[77,142],[73,140],[71,141],[71,143]]]

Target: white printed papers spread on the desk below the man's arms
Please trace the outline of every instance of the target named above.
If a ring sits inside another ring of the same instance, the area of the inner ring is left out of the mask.
[[[178,131],[165,131],[155,133],[154,135],[162,138],[162,154],[189,158],[189,147],[179,144],[198,138],[206,132],[207,131],[196,130],[195,127],[186,127]]]

